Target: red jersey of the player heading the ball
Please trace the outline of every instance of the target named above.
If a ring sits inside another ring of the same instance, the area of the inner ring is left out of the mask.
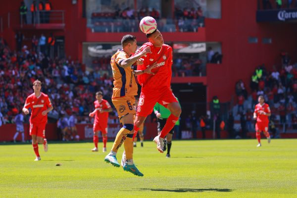
[[[137,65],[137,70],[145,70],[148,65],[156,62],[156,67],[151,70],[154,75],[142,74],[138,75],[137,79],[143,89],[161,89],[163,87],[170,87],[171,82],[171,65],[172,65],[172,48],[163,44],[161,48],[154,47],[151,43],[145,43],[136,54],[141,52],[146,47],[150,47],[152,53],[147,53],[144,58],[143,65]]]

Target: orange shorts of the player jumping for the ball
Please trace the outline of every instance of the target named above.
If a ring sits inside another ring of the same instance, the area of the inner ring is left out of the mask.
[[[133,115],[136,114],[134,96],[124,96],[120,98],[111,99],[111,101],[114,107],[116,108],[120,119],[129,113]]]

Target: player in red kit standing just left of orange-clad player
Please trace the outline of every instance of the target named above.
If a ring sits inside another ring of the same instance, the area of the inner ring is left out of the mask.
[[[93,142],[95,144],[95,148],[93,148],[92,151],[98,151],[98,133],[101,131],[103,142],[102,151],[106,152],[108,112],[111,112],[112,108],[108,101],[103,99],[102,92],[96,93],[96,99],[97,100],[94,101],[95,110],[89,114],[90,117],[95,116],[93,125]]]

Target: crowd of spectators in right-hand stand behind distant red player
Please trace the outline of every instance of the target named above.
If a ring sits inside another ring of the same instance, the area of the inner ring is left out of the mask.
[[[252,121],[254,105],[262,95],[272,112],[270,122],[273,129],[280,128],[286,132],[287,129],[297,128],[297,63],[291,62],[287,52],[281,53],[281,56],[280,67],[273,66],[272,70],[267,70],[264,65],[260,65],[255,69],[251,76],[249,95],[242,80],[236,83],[235,92],[237,112],[244,116],[243,119]],[[247,127],[247,130],[250,130],[250,127]]]

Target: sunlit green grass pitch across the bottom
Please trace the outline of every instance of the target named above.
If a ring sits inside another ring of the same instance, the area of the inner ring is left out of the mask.
[[[101,147],[102,143],[99,143]],[[112,143],[107,143],[107,150]],[[1,198],[297,198],[297,140],[173,141],[171,158],[153,142],[134,149],[137,177],[91,152],[92,143],[0,145]],[[123,148],[117,155],[121,160]],[[61,166],[55,166],[61,163]]]

